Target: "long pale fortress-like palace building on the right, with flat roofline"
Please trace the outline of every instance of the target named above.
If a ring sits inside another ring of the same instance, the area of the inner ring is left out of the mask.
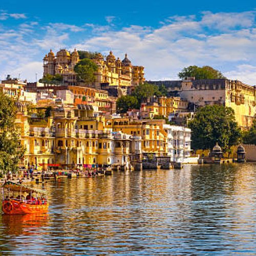
[[[193,103],[195,106],[222,104],[234,110],[236,121],[242,129],[252,125],[256,114],[256,87],[238,80],[187,78],[179,81],[149,81],[164,84],[169,94]]]

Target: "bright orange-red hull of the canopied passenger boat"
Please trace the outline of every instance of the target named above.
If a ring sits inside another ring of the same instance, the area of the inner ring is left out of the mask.
[[[19,202],[16,200],[3,201],[2,211],[4,214],[15,215],[15,214],[43,214],[48,211],[47,204],[28,204]]]

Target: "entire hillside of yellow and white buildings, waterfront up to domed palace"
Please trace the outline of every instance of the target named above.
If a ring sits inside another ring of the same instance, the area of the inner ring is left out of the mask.
[[[60,74],[62,82],[28,83],[8,76],[0,83],[0,90],[16,102],[16,125],[26,147],[21,166],[131,167],[155,160],[196,163],[198,156],[190,155],[191,130],[185,126],[199,106],[229,106],[242,129],[251,126],[256,114],[255,87],[228,79],[193,78],[149,81],[164,84],[168,96],[142,99],[140,109],[117,114],[120,90],[130,93],[144,82],[144,68],[133,66],[126,54],[122,61],[112,52],[106,58],[93,56],[98,66],[93,84],[76,81],[79,54],[65,49],[56,56],[50,51],[44,58],[44,75]]]

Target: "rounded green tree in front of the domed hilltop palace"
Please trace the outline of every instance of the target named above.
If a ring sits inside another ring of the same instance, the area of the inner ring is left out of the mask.
[[[94,73],[98,70],[98,66],[90,59],[82,59],[80,60],[74,71],[77,74],[78,81],[84,81],[84,83],[92,83],[95,81]]]

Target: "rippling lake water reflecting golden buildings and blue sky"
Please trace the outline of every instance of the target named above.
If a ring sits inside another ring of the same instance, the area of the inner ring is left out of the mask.
[[[49,214],[0,217],[0,250],[255,254],[255,180],[247,163],[47,183]]]

